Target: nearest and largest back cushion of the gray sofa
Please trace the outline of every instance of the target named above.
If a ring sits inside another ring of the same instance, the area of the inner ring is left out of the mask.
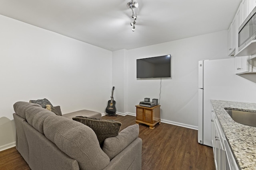
[[[80,122],[50,115],[44,120],[44,135],[77,160],[80,169],[103,169],[110,162],[110,158],[100,148],[94,131]]]

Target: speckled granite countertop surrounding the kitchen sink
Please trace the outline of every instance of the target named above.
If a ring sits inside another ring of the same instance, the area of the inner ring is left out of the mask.
[[[256,103],[222,100],[211,102],[238,167],[242,170],[256,170],[256,127],[235,122],[225,110],[256,112]]]

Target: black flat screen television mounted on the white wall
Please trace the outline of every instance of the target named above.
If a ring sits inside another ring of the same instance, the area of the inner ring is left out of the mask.
[[[137,59],[137,78],[171,77],[171,55]]]

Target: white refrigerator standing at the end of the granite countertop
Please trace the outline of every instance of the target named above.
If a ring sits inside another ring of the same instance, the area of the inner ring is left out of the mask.
[[[246,88],[245,88],[246,87]],[[198,62],[198,143],[212,146],[210,100],[248,102],[255,84],[235,74],[235,59]]]

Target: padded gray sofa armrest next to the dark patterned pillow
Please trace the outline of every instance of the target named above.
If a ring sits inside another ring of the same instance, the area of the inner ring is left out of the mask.
[[[116,137],[106,138],[102,150],[110,160],[138,138],[139,125],[131,125],[122,130]]]

